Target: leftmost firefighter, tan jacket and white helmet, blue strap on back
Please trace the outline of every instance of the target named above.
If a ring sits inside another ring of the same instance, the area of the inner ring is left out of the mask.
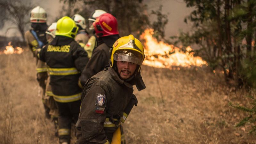
[[[33,52],[34,57],[36,57],[36,50],[42,48],[45,44],[47,44],[45,31],[48,28],[46,24],[47,14],[45,10],[37,6],[30,12],[30,22],[31,28],[25,33],[26,42]],[[45,62],[38,60],[36,58],[36,79],[39,83],[39,86],[42,88],[42,101],[45,109],[45,116],[47,118],[51,118],[49,115],[50,109],[45,105],[45,86],[47,80],[47,68]]]

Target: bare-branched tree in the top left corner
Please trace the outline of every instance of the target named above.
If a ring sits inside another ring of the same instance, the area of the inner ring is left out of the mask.
[[[25,43],[25,27],[29,23],[27,17],[29,16],[29,11],[33,8],[30,3],[24,3],[21,0],[8,0],[0,1],[1,11],[5,12],[5,15],[1,18],[4,21],[10,21],[15,25],[22,36],[22,40]],[[12,28],[12,27],[11,27]],[[7,31],[11,28],[8,28]]]

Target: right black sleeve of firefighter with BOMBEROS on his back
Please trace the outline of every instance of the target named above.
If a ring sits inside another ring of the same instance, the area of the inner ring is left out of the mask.
[[[76,69],[82,72],[89,58],[87,52],[79,44],[76,45],[75,51],[73,52],[73,59],[75,61]]]

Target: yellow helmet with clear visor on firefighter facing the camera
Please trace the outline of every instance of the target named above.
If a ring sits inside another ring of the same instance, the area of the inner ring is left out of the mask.
[[[134,38],[133,35],[123,36],[116,40],[112,47],[110,67],[113,67],[114,60],[132,62],[141,67],[144,59],[144,49],[141,42],[137,38]],[[138,68],[138,72],[140,71],[140,67]]]

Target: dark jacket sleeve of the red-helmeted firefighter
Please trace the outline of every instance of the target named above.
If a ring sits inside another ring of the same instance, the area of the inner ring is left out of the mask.
[[[89,78],[104,69],[106,66],[106,62],[104,60],[106,60],[104,50],[95,49],[95,51],[92,53],[92,58],[88,61],[79,78],[82,86],[84,86]]]

